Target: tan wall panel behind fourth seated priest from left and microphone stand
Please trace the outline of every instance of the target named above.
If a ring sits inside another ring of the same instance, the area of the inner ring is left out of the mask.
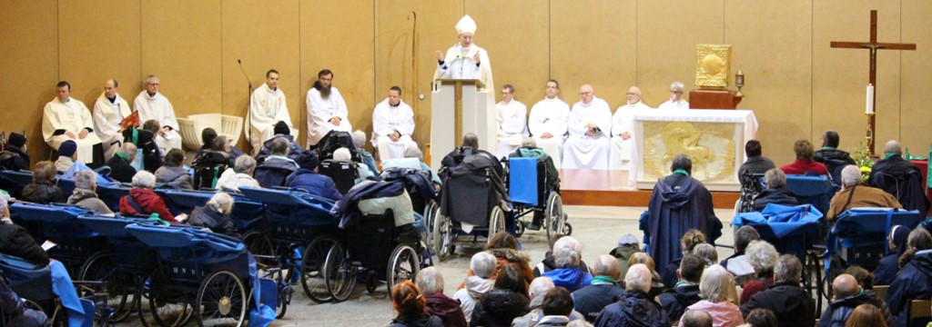
[[[221,5],[223,112],[246,117],[250,95],[237,63],[241,59],[254,87],[265,83],[269,69],[280,72],[279,87],[285,93],[292,124],[300,124],[304,98],[298,73],[298,2],[277,1],[275,6],[267,5],[258,0],[225,1]],[[305,136],[302,134],[301,138]],[[243,150],[249,148],[245,137],[243,133],[239,143]]]

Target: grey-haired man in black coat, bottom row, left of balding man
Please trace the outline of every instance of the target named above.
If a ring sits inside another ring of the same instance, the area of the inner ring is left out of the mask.
[[[781,255],[774,267],[774,286],[754,294],[741,306],[741,314],[763,307],[774,311],[779,326],[816,325],[816,301],[800,286],[802,264],[794,255]]]

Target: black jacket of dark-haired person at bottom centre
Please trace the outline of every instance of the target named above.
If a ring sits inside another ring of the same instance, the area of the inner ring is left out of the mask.
[[[530,300],[524,294],[509,290],[489,291],[473,308],[470,326],[511,326],[512,320],[528,314]]]

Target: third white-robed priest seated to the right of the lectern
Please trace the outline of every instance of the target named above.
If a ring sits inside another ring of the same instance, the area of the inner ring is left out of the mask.
[[[580,100],[569,111],[569,137],[563,149],[564,169],[609,169],[609,103],[596,98],[591,85],[580,87]]]

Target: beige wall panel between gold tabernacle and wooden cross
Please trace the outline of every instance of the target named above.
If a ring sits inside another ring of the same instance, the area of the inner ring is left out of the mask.
[[[732,70],[747,76],[738,108],[757,116],[764,155],[787,164],[793,143],[809,137],[812,124],[812,4],[726,0],[724,26]]]

